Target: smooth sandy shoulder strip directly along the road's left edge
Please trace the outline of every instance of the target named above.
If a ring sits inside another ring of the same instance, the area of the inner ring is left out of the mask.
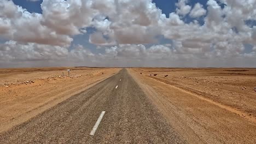
[[[0,117],[2,119],[0,122],[0,133],[14,127],[15,125],[28,121],[32,117],[37,116],[39,113],[50,109],[62,101],[65,101],[73,95],[79,94],[86,89],[95,86],[97,83],[100,83],[118,73],[119,70],[120,69],[106,70],[104,71],[104,75],[98,74],[96,78],[95,76],[90,76],[85,77],[85,79],[80,79],[79,81],[71,80],[67,85],[60,83],[59,86],[62,87],[53,87],[51,89],[48,87],[44,89],[42,87],[38,90],[32,90],[33,87],[27,88],[27,91],[34,91],[34,96],[31,95],[33,97],[24,98],[22,99],[23,101],[17,101],[15,103],[7,101],[0,104],[2,107],[0,112],[3,114],[2,117]],[[56,86],[56,84],[54,86]],[[43,93],[38,94],[39,90]],[[22,105],[25,105],[25,107]]]

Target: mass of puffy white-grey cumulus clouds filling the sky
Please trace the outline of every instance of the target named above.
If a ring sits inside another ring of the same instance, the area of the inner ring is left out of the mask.
[[[206,5],[179,0],[175,5],[166,17],[151,0],[44,0],[39,14],[2,0],[0,67],[21,62],[256,67],[251,63],[256,61],[255,0],[208,0]],[[88,35],[86,42],[101,52],[88,49],[84,41],[77,44],[75,35]],[[253,45],[252,52],[245,52],[247,44]]]

